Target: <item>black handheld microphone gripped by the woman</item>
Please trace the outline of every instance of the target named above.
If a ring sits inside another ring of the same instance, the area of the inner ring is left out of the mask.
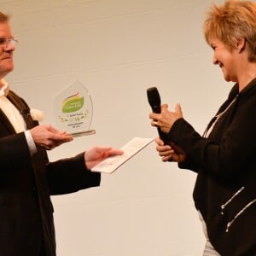
[[[153,113],[161,113],[161,100],[160,94],[156,87],[148,88],[147,90],[148,102],[152,108]],[[165,144],[167,141],[167,134],[160,130],[160,127],[157,127],[160,138],[164,141]]]

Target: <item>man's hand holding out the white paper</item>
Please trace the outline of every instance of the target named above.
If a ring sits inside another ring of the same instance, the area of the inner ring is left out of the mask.
[[[113,149],[110,147],[93,147],[84,153],[84,160],[86,167],[90,170],[102,160],[107,159],[110,156],[117,155],[117,154],[124,154],[124,151],[119,149]]]

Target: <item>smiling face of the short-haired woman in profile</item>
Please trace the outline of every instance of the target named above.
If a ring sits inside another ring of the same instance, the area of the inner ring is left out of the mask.
[[[222,69],[224,79],[227,82],[237,82],[236,50],[230,49],[229,46],[217,38],[211,38],[210,44],[214,51],[213,64]]]

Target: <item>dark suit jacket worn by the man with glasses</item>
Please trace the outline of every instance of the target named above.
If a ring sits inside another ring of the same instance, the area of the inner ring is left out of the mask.
[[[9,91],[27,129],[29,108]],[[44,148],[30,155],[24,132],[15,133],[0,108],[0,255],[38,256],[42,241],[45,255],[55,256],[55,228],[50,195],[73,193],[100,184],[99,173],[89,172],[84,154],[49,163]]]

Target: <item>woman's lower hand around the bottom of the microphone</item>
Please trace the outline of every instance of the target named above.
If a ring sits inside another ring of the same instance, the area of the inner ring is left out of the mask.
[[[169,145],[165,145],[160,137],[157,137],[154,141],[157,143],[156,150],[162,158],[162,161],[173,161],[181,163],[186,159],[185,152],[176,144],[170,143]]]

